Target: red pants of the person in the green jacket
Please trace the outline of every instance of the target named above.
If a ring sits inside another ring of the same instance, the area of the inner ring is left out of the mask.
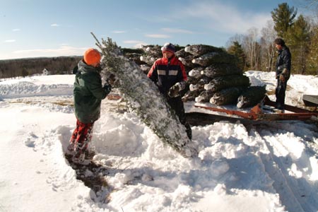
[[[70,143],[74,144],[74,151],[76,153],[83,153],[88,148],[93,135],[94,123],[84,124],[77,120],[76,129],[74,129],[71,136]]]

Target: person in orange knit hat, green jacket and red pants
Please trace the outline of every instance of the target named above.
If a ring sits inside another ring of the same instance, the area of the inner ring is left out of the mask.
[[[101,102],[110,90],[111,86],[108,84],[102,87],[100,52],[97,49],[86,50],[83,59],[78,62],[73,88],[77,122],[68,150],[74,151],[75,163],[81,163],[85,159],[85,152],[92,138],[93,124],[100,118]]]

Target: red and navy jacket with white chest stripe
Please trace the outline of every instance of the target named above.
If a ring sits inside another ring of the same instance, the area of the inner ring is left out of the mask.
[[[148,72],[148,78],[157,83],[161,93],[167,95],[169,89],[181,81],[187,81],[187,73],[184,66],[175,55],[170,59],[157,59],[151,70]]]

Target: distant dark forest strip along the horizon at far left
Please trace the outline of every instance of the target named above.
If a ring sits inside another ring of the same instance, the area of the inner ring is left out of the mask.
[[[51,74],[72,73],[82,57],[40,57],[0,60],[0,78],[29,76],[47,69]]]

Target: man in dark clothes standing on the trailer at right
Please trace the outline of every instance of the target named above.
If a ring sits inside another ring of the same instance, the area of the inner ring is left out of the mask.
[[[285,110],[285,91],[287,81],[290,78],[291,54],[281,38],[276,38],[275,47],[278,49],[278,58],[276,61],[276,108],[284,112]]]

